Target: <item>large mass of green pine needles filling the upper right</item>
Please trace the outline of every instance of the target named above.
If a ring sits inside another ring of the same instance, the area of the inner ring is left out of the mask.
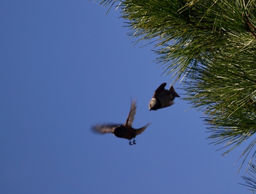
[[[182,80],[188,100],[204,112],[223,155],[256,132],[255,0],[103,0],[117,5],[136,41],[149,41],[165,66]],[[109,7],[109,8],[110,8]],[[241,154],[242,164],[256,138]]]

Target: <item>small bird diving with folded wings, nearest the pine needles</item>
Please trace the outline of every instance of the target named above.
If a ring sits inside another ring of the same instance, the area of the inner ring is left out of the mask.
[[[180,97],[174,90],[173,86],[165,90],[166,83],[162,83],[155,91],[149,102],[149,110],[157,110],[174,104],[175,97]]]

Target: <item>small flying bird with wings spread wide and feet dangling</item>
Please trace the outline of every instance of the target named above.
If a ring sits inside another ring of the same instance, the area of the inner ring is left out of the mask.
[[[145,126],[139,129],[134,129],[132,127],[132,123],[133,123],[135,114],[136,114],[136,102],[132,100],[131,109],[125,124],[97,124],[97,125],[94,125],[92,129],[99,133],[113,133],[117,137],[128,139],[130,145],[136,144],[136,141],[135,141],[136,135],[141,134],[150,125],[150,123],[146,124]],[[132,138],[133,138],[133,141],[131,141]]]

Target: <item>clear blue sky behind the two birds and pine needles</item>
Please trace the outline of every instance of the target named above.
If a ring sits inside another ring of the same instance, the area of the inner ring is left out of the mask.
[[[151,62],[152,45],[132,47],[119,13],[106,10],[92,1],[1,2],[0,193],[251,193],[238,184],[245,169],[233,167],[244,147],[222,157],[202,112],[179,98],[149,112],[170,76]],[[124,123],[131,97],[133,126],[152,123],[136,145],[91,132]]]

